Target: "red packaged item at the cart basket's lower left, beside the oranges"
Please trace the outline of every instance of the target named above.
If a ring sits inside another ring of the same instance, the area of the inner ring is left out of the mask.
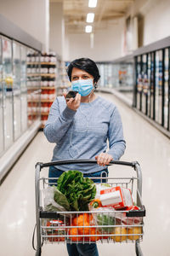
[[[51,227],[51,229],[47,228],[47,236],[48,241],[65,241],[66,236],[66,228],[65,224],[61,220],[51,219],[47,222],[47,227]],[[54,236],[54,237],[50,237]]]

